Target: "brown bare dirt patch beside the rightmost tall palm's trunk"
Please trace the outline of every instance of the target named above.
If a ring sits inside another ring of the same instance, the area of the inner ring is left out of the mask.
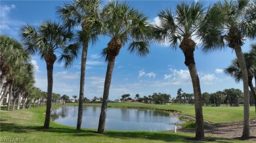
[[[230,123],[205,123],[205,136],[215,136],[220,138],[240,138],[243,133],[243,121]],[[251,119],[251,136],[247,140],[256,141],[256,118]],[[180,133],[196,133],[194,129],[179,129]]]

